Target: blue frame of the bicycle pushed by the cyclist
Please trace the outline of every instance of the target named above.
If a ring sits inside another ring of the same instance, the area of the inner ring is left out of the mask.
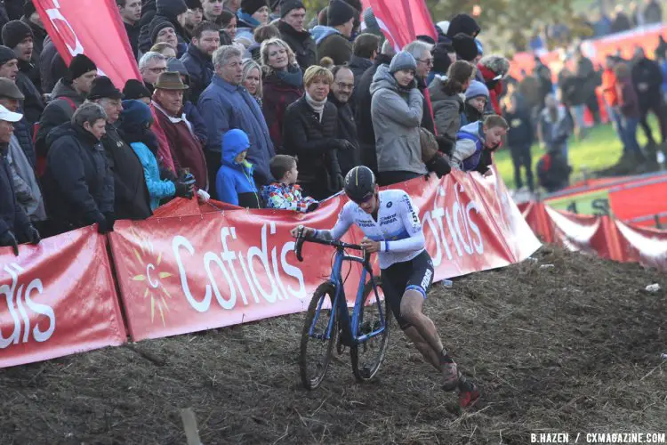
[[[348,309],[348,303],[345,298],[345,289],[343,287],[342,281],[342,263],[345,261],[350,261],[353,263],[361,263],[363,268],[361,271],[361,278],[359,279],[358,289],[357,289],[357,298],[354,303],[354,308],[352,311],[352,319],[350,320],[350,312]],[[366,277],[370,276],[371,286],[373,287],[373,292],[375,295],[374,304],[377,304],[378,310],[380,312],[380,322],[381,326],[378,329],[375,329],[372,332],[358,336],[358,327],[363,320],[360,320],[361,314],[361,305],[364,303],[364,288],[366,287]],[[329,319],[329,325],[326,328],[325,339],[331,337],[333,332],[333,326],[335,325],[336,317],[340,317],[340,322],[342,323],[342,328],[347,331],[349,338],[355,344],[364,343],[367,340],[370,340],[374,336],[379,336],[384,331],[386,326],[385,316],[386,314],[382,312],[382,304],[380,301],[380,295],[377,293],[377,283],[375,282],[373,271],[371,265],[365,258],[356,255],[348,255],[345,253],[342,247],[336,247],[336,255],[333,261],[333,268],[331,271],[331,276],[329,277],[329,282],[333,285],[335,290],[335,297],[333,298],[332,304],[332,317]],[[313,336],[313,328],[315,323],[319,318],[319,313],[322,310],[324,303],[324,298],[317,304],[317,311],[315,312],[315,318],[313,319],[313,324],[309,329],[309,336]]]

